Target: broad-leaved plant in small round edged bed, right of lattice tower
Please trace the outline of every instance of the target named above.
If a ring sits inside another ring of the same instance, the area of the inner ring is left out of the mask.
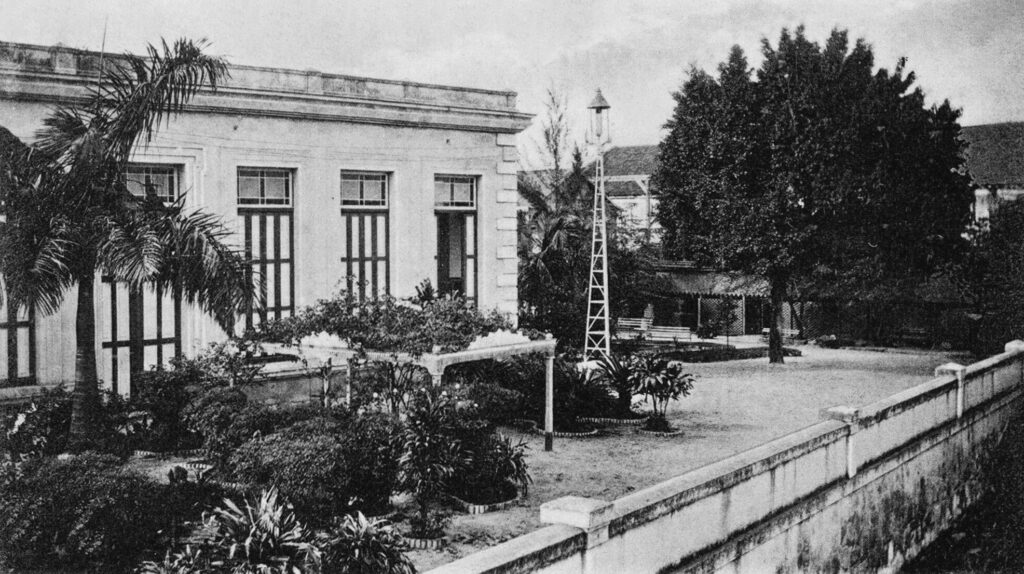
[[[669,401],[687,396],[693,388],[693,376],[683,372],[679,363],[650,354],[639,354],[630,361],[630,382],[634,392],[647,397],[651,416],[644,423],[644,431],[674,434],[666,414]]]

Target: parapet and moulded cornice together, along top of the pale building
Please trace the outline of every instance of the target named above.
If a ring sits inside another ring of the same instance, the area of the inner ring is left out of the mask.
[[[108,55],[108,58],[112,56]],[[99,54],[0,42],[0,98],[82,101],[97,81]],[[517,133],[532,116],[510,91],[479,90],[258,67],[230,67],[216,91],[188,112],[297,120]]]

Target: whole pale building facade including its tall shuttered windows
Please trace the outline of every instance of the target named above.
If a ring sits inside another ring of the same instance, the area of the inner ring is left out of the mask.
[[[0,43],[0,125],[31,142],[100,62]],[[265,313],[245,326],[339,289],[409,297],[424,279],[514,320],[515,134],[529,119],[514,92],[231,67],[135,151],[127,175],[135,192],[183,195],[234,231],[264,277]],[[133,372],[226,337],[170,294],[105,280],[96,296],[99,373],[118,392]],[[74,302],[49,316],[0,309],[0,381],[73,378]]]

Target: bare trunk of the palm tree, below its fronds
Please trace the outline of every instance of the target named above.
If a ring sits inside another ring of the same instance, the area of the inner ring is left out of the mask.
[[[95,435],[99,409],[96,378],[96,318],[93,281],[89,271],[78,278],[78,309],[75,313],[75,390],[72,394],[69,444],[80,448]]]

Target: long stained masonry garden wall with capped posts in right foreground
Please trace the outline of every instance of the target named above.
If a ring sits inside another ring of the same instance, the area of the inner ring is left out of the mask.
[[[551,526],[432,572],[894,571],[984,491],[1022,389],[1015,341],[623,498],[546,502]]]

